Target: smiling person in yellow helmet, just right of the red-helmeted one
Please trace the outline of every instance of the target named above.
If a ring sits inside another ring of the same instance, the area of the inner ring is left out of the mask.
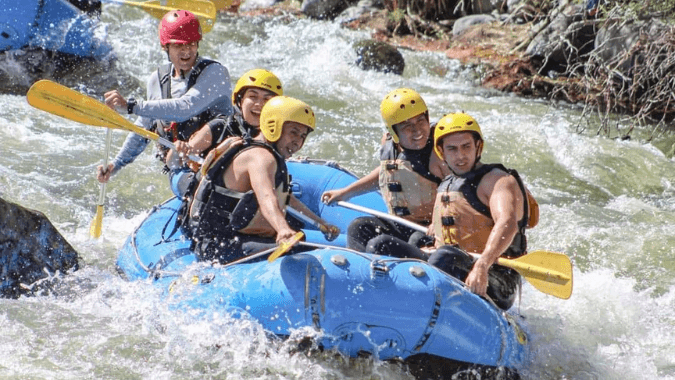
[[[283,95],[284,89],[279,78],[265,69],[249,70],[239,78],[232,92],[234,113],[219,115],[209,121],[190,137],[189,141],[177,141],[176,150],[167,157],[170,168],[188,166],[197,171],[199,165],[187,160],[189,155],[199,155],[225,141],[231,136],[260,133],[260,111],[268,100]]]

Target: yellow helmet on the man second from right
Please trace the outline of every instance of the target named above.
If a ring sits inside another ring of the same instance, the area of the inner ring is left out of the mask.
[[[409,88],[399,88],[390,92],[380,104],[382,120],[395,143],[398,143],[398,134],[394,131],[394,125],[427,111],[427,105],[420,94]]]

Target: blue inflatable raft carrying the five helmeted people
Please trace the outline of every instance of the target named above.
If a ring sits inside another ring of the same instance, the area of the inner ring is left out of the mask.
[[[342,231],[362,215],[319,201],[323,191],[354,181],[350,173],[312,162],[288,166],[296,196]],[[385,209],[377,193],[351,201]],[[322,349],[352,357],[422,367],[441,360],[445,364],[436,369],[470,366],[510,374],[502,378],[517,378],[526,362],[527,336],[514,317],[425,262],[328,246],[308,227],[309,244],[316,247],[310,252],[272,263],[198,263],[190,241],[175,228],[180,203],[172,198],[154,208],[117,261],[124,276],[150,279],[179,310],[250,317],[282,337],[312,331]]]

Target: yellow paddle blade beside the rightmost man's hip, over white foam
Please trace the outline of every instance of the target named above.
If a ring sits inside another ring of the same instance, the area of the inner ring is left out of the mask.
[[[516,259],[497,260],[512,268],[539,291],[569,299],[572,295],[572,262],[567,255],[550,251],[533,251]]]

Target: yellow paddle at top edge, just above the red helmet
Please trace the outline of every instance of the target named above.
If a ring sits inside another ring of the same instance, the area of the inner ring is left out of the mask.
[[[148,12],[152,17],[161,19],[164,15],[176,9],[190,11],[197,16],[203,33],[208,33],[216,23],[216,6],[206,0],[150,0],[143,2],[128,0],[104,0],[112,4],[125,4],[138,7]]]

